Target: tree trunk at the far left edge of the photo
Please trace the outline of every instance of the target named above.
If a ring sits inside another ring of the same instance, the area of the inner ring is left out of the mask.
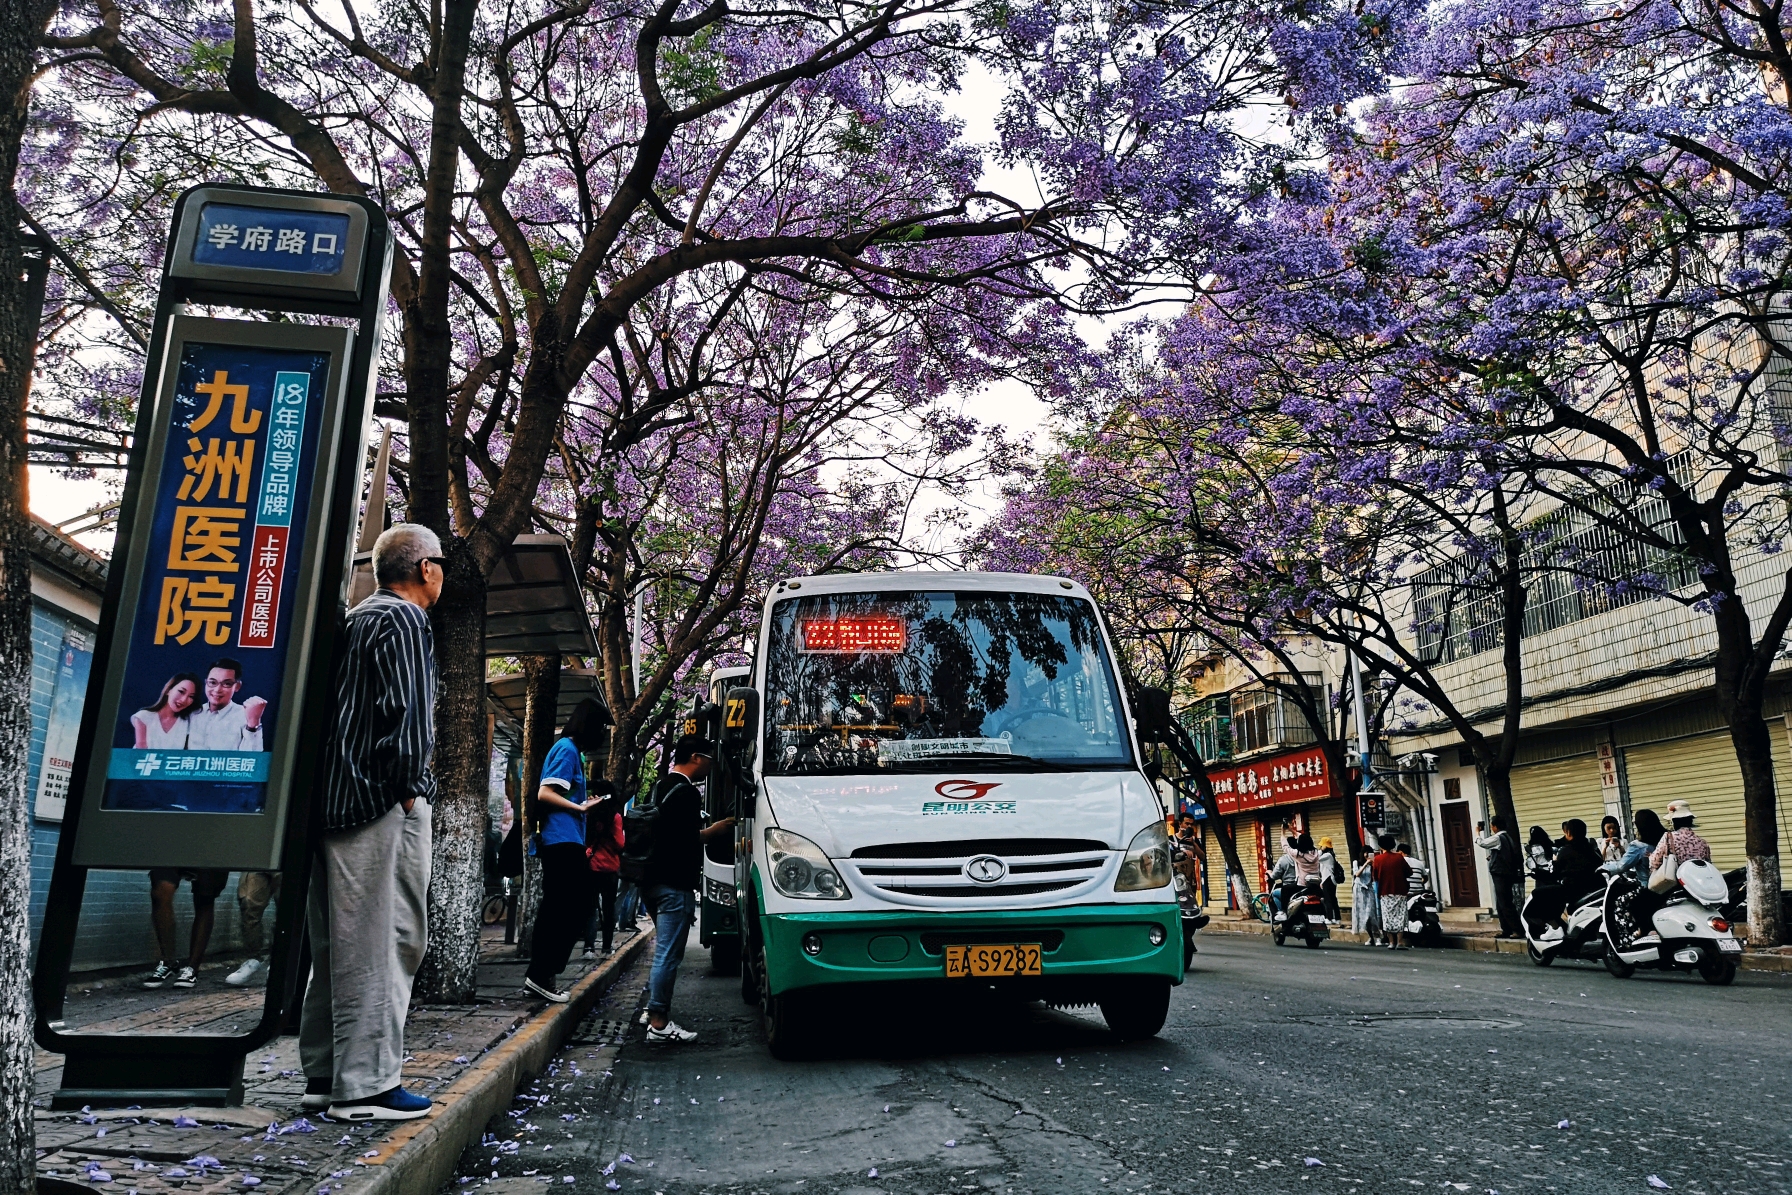
[[[43,312],[41,267],[18,240],[18,150],[38,39],[54,5],[0,4],[0,1191],[38,1188],[30,1000],[30,509],[25,401]]]

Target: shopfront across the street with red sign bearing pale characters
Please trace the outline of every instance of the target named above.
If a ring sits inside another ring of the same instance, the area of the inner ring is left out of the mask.
[[[1213,781],[1213,808],[1202,824],[1206,864],[1211,880],[1202,898],[1215,907],[1235,908],[1231,871],[1220,853],[1215,824],[1231,831],[1238,844],[1238,862],[1253,892],[1269,885],[1269,871],[1290,835],[1312,833],[1314,840],[1331,838],[1331,847],[1348,867],[1344,846],[1344,799],[1326,754],[1319,747],[1299,747],[1208,772]],[[1349,903],[1349,885],[1339,885],[1339,901]]]

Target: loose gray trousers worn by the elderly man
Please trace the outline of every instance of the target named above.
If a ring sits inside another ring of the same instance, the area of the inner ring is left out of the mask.
[[[299,1064],[333,1100],[400,1084],[410,980],[428,944],[430,803],[326,833],[312,862],[312,978],[299,1014]]]

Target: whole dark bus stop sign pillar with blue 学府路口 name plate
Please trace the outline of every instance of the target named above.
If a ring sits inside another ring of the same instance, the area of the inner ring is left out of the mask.
[[[367,199],[195,186],[176,201],[32,980],[38,1045],[65,1055],[52,1107],[240,1104],[244,1057],[303,994],[310,794],[391,254]],[[72,1032],[97,869],[278,874],[260,1021]]]

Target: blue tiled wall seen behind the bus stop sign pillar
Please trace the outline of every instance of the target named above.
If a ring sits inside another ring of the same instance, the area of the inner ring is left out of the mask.
[[[56,658],[63,647],[63,632],[72,625],[65,615],[41,602],[30,611],[30,776],[25,792],[36,803],[38,769],[43,765],[43,736],[50,720],[50,697],[56,692]],[[56,844],[61,826],[36,821],[30,828],[30,937],[36,944],[43,930],[43,907],[50,896],[50,869],[56,865]],[[186,932],[194,907],[181,887],[174,901],[176,948],[186,953]],[[272,910],[267,914],[272,930]],[[237,937],[237,876],[229,878],[217,901],[217,928],[211,932],[213,957],[238,953]],[[149,930],[149,878],[140,871],[90,871],[86,896],[81,901],[81,930],[75,942],[73,967],[151,966],[154,937]]]

